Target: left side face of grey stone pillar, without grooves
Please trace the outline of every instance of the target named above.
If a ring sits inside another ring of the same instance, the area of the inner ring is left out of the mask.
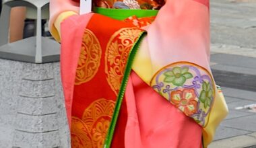
[[[12,67],[12,68],[10,68]],[[0,59],[0,147],[11,148],[22,64]]]

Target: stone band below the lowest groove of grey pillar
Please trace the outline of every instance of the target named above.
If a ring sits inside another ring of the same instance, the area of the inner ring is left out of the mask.
[[[58,131],[48,133],[24,133],[15,131],[13,139],[13,147],[30,147],[30,148],[50,148],[59,147],[60,137]]]

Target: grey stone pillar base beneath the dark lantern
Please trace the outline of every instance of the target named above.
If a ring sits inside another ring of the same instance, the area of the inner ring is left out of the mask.
[[[59,63],[0,59],[0,147],[69,147]]]

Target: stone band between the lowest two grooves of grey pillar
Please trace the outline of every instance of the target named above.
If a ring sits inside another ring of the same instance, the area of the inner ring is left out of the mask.
[[[18,114],[15,120],[15,129],[19,131],[26,131],[28,133],[56,131],[59,129],[59,124],[56,118],[56,114],[48,114],[44,116]]]

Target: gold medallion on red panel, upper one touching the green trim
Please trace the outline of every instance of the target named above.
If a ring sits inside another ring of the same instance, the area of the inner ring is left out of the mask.
[[[139,28],[122,28],[113,34],[106,46],[106,79],[116,95],[121,86],[131,48],[142,32]]]

